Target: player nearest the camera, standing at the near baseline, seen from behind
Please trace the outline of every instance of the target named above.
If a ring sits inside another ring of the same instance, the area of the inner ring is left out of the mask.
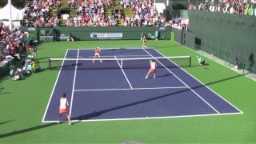
[[[62,116],[62,114],[66,114],[66,118],[69,121],[69,124],[71,125],[71,121],[70,121],[70,115],[68,114],[68,106],[69,106],[69,102],[67,102],[67,98],[66,98],[66,93],[62,94],[62,98],[60,99],[60,105],[59,105],[59,110],[58,110],[58,123],[60,121],[60,118]]]

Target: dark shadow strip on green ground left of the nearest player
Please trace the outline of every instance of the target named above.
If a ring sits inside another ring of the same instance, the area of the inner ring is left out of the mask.
[[[47,124],[44,124],[44,125],[33,126],[33,127],[22,129],[22,130],[14,130],[14,131],[6,133],[6,134],[0,134],[0,138],[6,138],[6,137],[13,136],[13,135],[23,134],[23,133],[27,133],[27,132],[30,132],[30,131],[40,130],[40,129],[43,129],[43,128],[46,128],[46,127],[55,126],[55,125],[61,125],[61,124],[62,123],[60,123],[60,124],[57,124],[57,123],[47,123]]]

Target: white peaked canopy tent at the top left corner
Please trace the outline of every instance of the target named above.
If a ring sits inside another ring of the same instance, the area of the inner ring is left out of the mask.
[[[0,10],[0,20],[2,19],[21,20],[23,18],[24,10],[25,9],[18,10],[10,2],[8,2],[7,5]],[[10,13],[11,13],[11,18],[10,18]]]

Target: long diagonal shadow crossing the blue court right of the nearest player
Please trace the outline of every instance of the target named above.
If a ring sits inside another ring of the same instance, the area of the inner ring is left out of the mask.
[[[239,74],[239,75],[235,75],[235,76],[230,77],[230,78],[224,78],[224,79],[221,79],[221,80],[218,80],[218,81],[209,82],[209,83],[206,83],[206,86],[210,86],[210,85],[213,85],[213,84],[218,83],[218,82],[225,82],[225,81],[228,81],[230,79],[239,78],[241,76],[243,76],[243,75]],[[203,86],[204,85],[194,86],[194,87],[191,87],[191,89],[196,90],[196,89],[201,88]],[[164,94],[164,95],[160,95],[160,96],[157,96],[157,97],[154,97],[154,98],[143,99],[143,100],[138,101],[138,102],[132,102],[130,104],[126,104],[126,105],[122,105],[122,106],[116,106],[116,107],[113,107],[113,108],[110,108],[110,109],[106,109],[106,110],[94,111],[94,112],[92,112],[90,114],[84,114],[84,115],[81,115],[81,116],[78,116],[78,117],[74,117],[74,118],[71,118],[71,119],[72,120],[88,120],[90,118],[96,118],[96,117],[98,117],[98,116],[100,116],[102,114],[105,114],[107,112],[110,112],[110,111],[119,110],[119,109],[126,108],[126,107],[129,107],[129,106],[135,106],[135,105],[138,105],[138,104],[141,104],[141,103],[145,103],[145,102],[151,102],[151,101],[154,101],[154,100],[157,100],[157,99],[170,97],[170,96],[172,96],[174,94],[180,94],[180,93],[183,93],[183,92],[186,92],[186,91],[190,91],[190,89],[178,90],[178,91],[170,93],[170,94]]]

